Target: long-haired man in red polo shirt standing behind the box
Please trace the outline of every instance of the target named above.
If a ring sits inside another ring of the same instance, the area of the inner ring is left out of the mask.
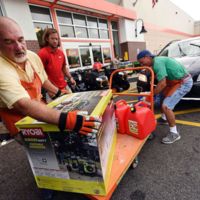
[[[60,47],[60,38],[54,28],[47,28],[43,34],[43,48],[38,52],[44,65],[48,79],[64,93],[70,93],[65,77],[72,85],[76,82],[69,72],[66,65],[66,59]],[[52,94],[49,94],[52,96]]]

